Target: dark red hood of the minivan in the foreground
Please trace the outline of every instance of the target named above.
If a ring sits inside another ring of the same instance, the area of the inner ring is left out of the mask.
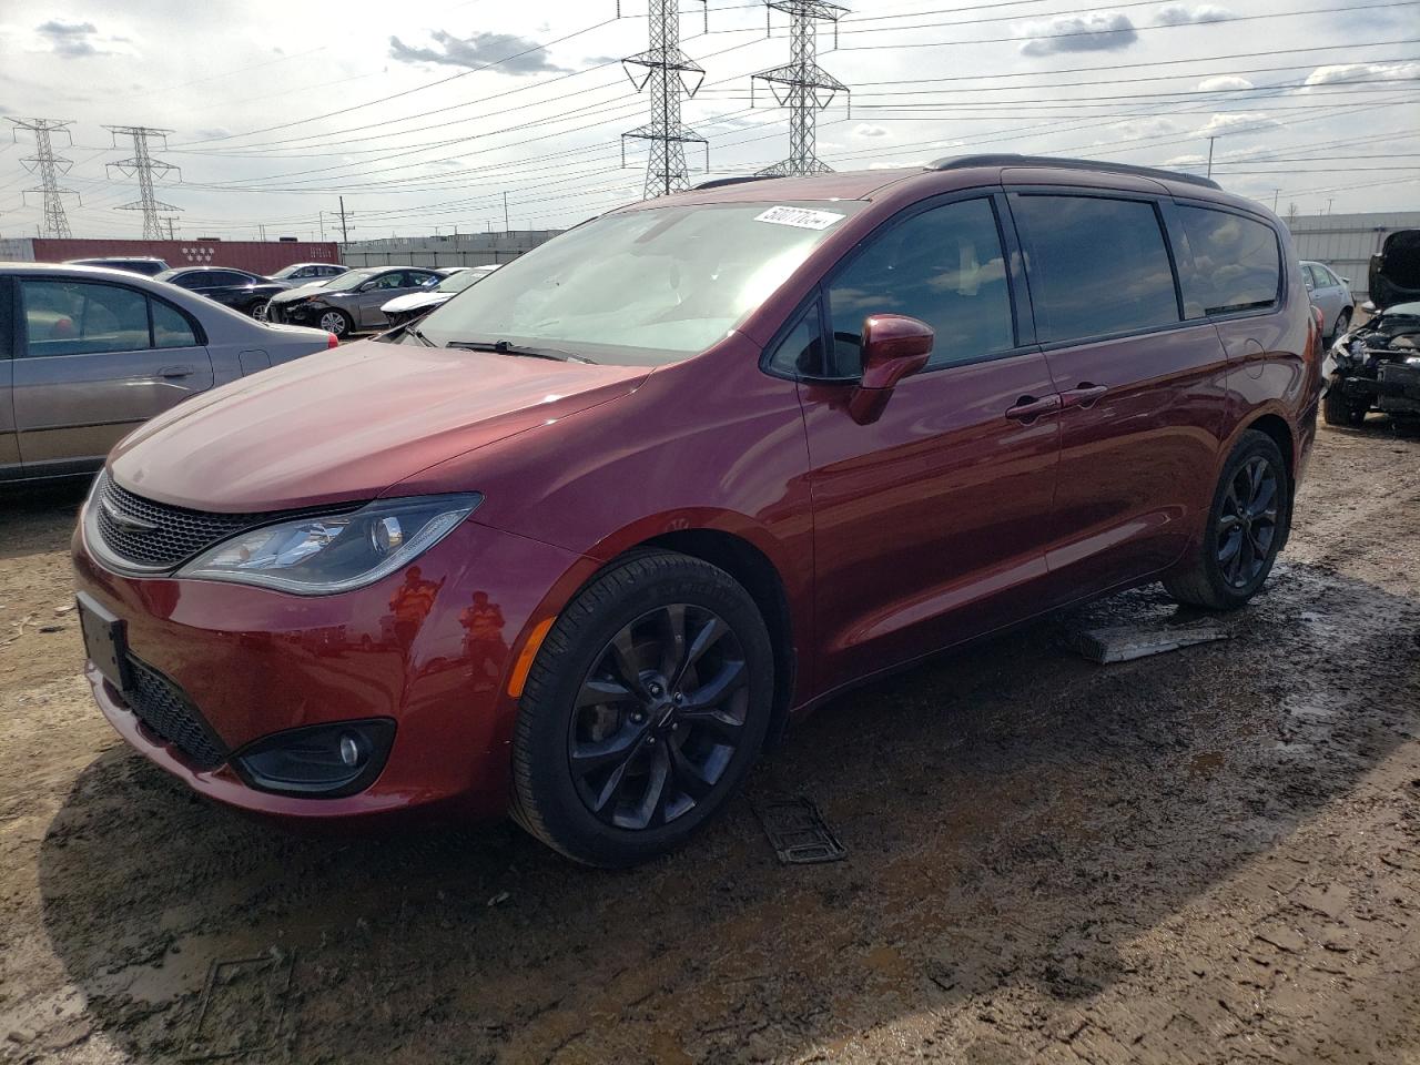
[[[180,403],[125,437],[108,466],[131,491],[193,510],[373,498],[429,466],[623,396],[648,373],[358,341]]]

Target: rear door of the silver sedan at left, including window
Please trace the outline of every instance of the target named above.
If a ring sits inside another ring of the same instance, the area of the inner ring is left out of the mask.
[[[14,422],[27,477],[97,467],[153,415],[212,388],[195,325],[136,288],[20,281]]]

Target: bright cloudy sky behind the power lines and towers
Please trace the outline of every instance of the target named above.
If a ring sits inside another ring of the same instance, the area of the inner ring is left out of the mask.
[[[561,227],[642,195],[621,133],[648,102],[618,60],[646,47],[646,3],[7,0],[0,118],[72,121],[75,236],[141,233],[108,166],[132,143],[105,125],[172,131],[158,195],[187,237],[331,237],[339,196],[351,239],[498,229],[504,197],[514,229]],[[784,16],[765,37],[763,3],[682,11],[710,175],[774,163],[787,116],[750,75],[788,61]],[[1012,151],[1201,172],[1214,136],[1214,178],[1279,213],[1420,209],[1417,0],[883,0],[818,48],[852,89],[818,121],[838,170]],[[43,220],[33,151],[0,138],[0,236]]]

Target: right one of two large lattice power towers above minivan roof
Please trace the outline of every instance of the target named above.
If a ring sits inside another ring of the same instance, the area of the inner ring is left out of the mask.
[[[750,78],[750,105],[754,106],[754,80],[768,82],[770,91],[780,106],[790,108],[790,158],[774,163],[763,175],[788,176],[804,173],[825,173],[829,168],[818,158],[815,136],[818,112],[834,102],[834,98],[848,87],[818,65],[816,21],[834,23],[848,14],[846,7],[824,0],[765,0],[765,16],[782,11],[790,16],[790,61],[784,67],[761,70]]]

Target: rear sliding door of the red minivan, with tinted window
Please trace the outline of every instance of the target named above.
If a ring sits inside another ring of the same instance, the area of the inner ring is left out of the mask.
[[[1163,204],[1064,192],[1010,203],[1062,400],[1047,561],[1066,601],[1181,557],[1211,498],[1228,359],[1201,311],[1184,320]]]

